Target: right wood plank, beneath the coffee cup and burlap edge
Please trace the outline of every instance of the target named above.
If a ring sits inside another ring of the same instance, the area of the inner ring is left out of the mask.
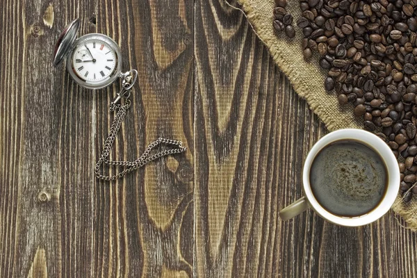
[[[238,11],[196,1],[195,33],[195,276],[417,277],[417,235],[393,213],[360,228],[279,220],[327,130]]]

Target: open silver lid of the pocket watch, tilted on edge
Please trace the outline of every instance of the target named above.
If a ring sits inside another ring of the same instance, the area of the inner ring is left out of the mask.
[[[58,42],[55,44],[54,66],[59,65],[62,60],[71,51],[76,39],[76,33],[80,28],[80,19],[74,19],[70,24],[65,26],[63,33],[60,34]]]

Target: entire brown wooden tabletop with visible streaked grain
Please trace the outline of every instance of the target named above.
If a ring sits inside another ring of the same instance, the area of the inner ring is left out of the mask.
[[[76,17],[139,72],[111,157],[158,136],[185,154],[95,178],[118,84],[52,67]],[[417,277],[417,234],[393,213],[281,222],[327,130],[224,1],[5,0],[0,19],[0,277]]]

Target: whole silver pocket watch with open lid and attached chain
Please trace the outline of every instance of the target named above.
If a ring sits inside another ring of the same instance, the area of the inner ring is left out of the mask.
[[[110,111],[117,111],[117,113],[111,126],[111,132],[104,143],[103,152],[101,152],[99,161],[95,166],[97,178],[107,181],[119,179],[161,156],[184,152],[186,147],[183,147],[181,141],[158,138],[148,145],[145,152],[136,161],[109,161],[107,159],[126,111],[131,106],[129,97],[138,77],[138,72],[136,70],[122,72],[122,51],[114,40],[99,33],[90,33],[77,39],[76,35],[79,28],[80,20],[75,19],[60,34],[54,51],[54,66],[59,65],[67,58],[67,71],[72,79],[81,87],[87,89],[106,88],[117,78],[121,79],[120,91],[110,105]],[[123,104],[122,99],[124,99]],[[152,149],[163,144],[174,146],[174,148],[151,154]],[[106,176],[101,174],[101,167],[104,164],[120,166],[122,170],[113,176]]]

